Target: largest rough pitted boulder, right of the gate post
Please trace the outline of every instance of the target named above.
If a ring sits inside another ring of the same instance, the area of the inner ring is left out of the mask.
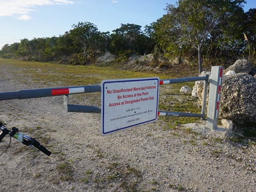
[[[223,76],[219,118],[256,126],[256,78],[247,73]]]

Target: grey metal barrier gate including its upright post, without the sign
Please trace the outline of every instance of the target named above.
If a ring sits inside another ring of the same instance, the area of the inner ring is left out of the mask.
[[[208,127],[209,129],[216,129],[217,127],[222,70],[223,68],[219,66],[212,67],[210,93],[209,93],[209,107],[207,110],[207,122],[206,122],[206,127]],[[201,119],[205,119],[207,86],[209,83],[208,80],[209,80],[209,76],[205,75],[202,77],[164,79],[159,81],[159,85],[204,81],[204,91],[203,91],[203,105],[202,105],[201,114],[181,113],[181,112],[172,112],[172,111],[158,111],[158,115],[159,116],[198,117]],[[31,99],[31,98],[43,98],[43,97],[53,97],[53,96],[64,95],[64,107],[67,112],[101,113],[101,107],[98,107],[98,106],[82,106],[82,105],[68,104],[69,94],[81,94],[81,93],[93,93],[93,92],[101,92],[101,85],[70,86],[70,87],[57,87],[57,88],[48,88],[48,89],[19,90],[14,92],[0,92],[0,100]]]

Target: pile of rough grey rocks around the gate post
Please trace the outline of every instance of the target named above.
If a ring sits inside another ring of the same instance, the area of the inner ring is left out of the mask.
[[[256,127],[256,69],[247,60],[237,60],[234,65],[223,71],[221,97],[220,97],[220,119],[229,119],[237,125],[237,129],[244,127]],[[203,72],[201,74],[211,73]],[[196,82],[192,95],[199,98],[202,106],[203,81]]]

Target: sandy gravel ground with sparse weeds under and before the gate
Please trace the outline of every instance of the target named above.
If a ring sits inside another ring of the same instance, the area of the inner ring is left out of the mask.
[[[31,79],[21,83],[23,70],[1,64],[0,92],[44,88]],[[88,105],[84,97],[73,102]],[[0,156],[0,191],[256,189],[255,142],[230,140],[223,127],[212,131],[202,121],[165,129],[164,117],[103,136],[100,114],[66,113],[60,96],[0,103],[6,127],[18,127],[52,151],[48,157],[13,139]],[[0,143],[1,151],[7,143]]]

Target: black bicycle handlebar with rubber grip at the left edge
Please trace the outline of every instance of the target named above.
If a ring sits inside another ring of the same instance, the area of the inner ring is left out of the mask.
[[[3,125],[2,122],[0,122],[0,129],[2,130],[2,133],[0,134],[0,142],[5,137],[6,134],[9,134],[10,137],[13,137],[15,139],[18,139],[18,141],[21,141],[26,146],[35,146],[37,149],[41,150],[45,155],[50,156],[51,152],[47,150],[44,146],[42,146],[36,139],[29,137],[28,135],[17,133],[19,131],[18,128],[12,127],[12,131],[9,129],[6,129],[6,127]]]

